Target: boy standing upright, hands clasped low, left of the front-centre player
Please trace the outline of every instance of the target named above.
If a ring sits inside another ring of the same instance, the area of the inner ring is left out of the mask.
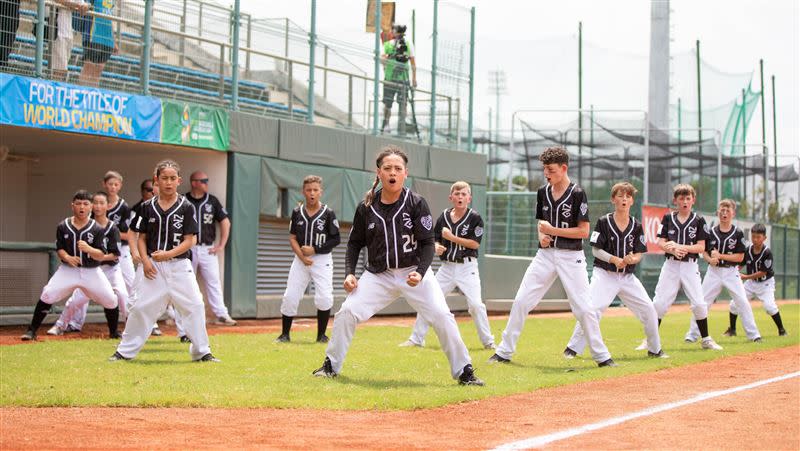
[[[322,177],[309,175],[303,179],[305,204],[292,211],[289,222],[289,244],[294,252],[286,291],[281,302],[281,334],[275,339],[287,343],[297,305],[310,281],[314,281],[314,305],[317,307],[317,343],[327,343],[328,319],[333,307],[333,256],[331,251],[341,242],[339,221],[327,205],[320,203]]]

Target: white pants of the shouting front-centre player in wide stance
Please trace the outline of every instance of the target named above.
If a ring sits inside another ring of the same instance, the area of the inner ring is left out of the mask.
[[[335,372],[342,370],[358,323],[370,319],[400,296],[433,326],[450,362],[450,375],[454,379],[471,363],[456,319],[447,308],[444,294],[433,271],[428,270],[416,287],[410,287],[406,280],[412,271],[416,271],[416,268],[389,269],[380,274],[364,272],[358,286],[347,296],[333,319],[333,334],[325,354],[331,360]]]

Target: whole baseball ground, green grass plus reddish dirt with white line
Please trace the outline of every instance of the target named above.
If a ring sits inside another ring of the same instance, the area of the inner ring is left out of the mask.
[[[715,352],[683,342],[689,312],[673,307],[661,327],[669,359],[634,351],[638,321],[610,310],[602,328],[617,368],[563,358],[570,314],[531,316],[512,363],[488,365],[492,352],[460,317],[485,387],[450,379],[433,334],[425,348],[398,347],[408,317],[359,327],[330,380],[311,376],[324,357],[311,321],[289,344],[273,343],[274,321],[210,326],[220,364],[191,362],[174,334],[110,363],[116,342],[99,326],[33,344],[6,327],[0,447],[800,448],[800,303],[781,304],[785,337],[754,305],[762,343],[723,337],[726,310],[710,316]],[[505,317],[491,319],[499,341]]]

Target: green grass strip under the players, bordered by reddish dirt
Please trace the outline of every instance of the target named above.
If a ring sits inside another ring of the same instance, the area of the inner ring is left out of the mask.
[[[461,333],[485,387],[462,387],[450,379],[447,360],[433,331],[425,349],[399,348],[409,328],[365,326],[356,332],[342,374],[332,380],[311,376],[324,358],[314,332],[295,332],[294,342],[277,345],[276,334],[211,337],[221,364],[189,361],[175,337],[151,338],[131,362],[110,363],[111,340],[64,340],[0,347],[2,406],[276,407],[313,409],[414,409],[491,396],[529,392],[625,374],[657,371],[724,356],[800,342],[800,305],[781,308],[790,335],[778,337],[772,320],[755,310],[764,342],[726,338],[727,314],[714,312],[710,329],[722,352],[683,343],[688,313],[668,315],[661,327],[670,359],[650,359],[633,348],[642,332],[632,317],[606,318],[603,334],[618,368],[597,368],[584,355],[561,356],[574,320],[534,317],[526,324],[511,365],[488,365],[491,351],[478,343],[474,325]],[[499,342],[505,321],[493,321]],[[741,331],[741,324],[739,325]]]

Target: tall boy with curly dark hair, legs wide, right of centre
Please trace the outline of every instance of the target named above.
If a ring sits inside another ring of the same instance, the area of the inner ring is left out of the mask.
[[[589,238],[590,231],[586,193],[569,180],[569,154],[565,148],[548,147],[539,161],[547,179],[547,185],[536,194],[539,250],[525,271],[503,340],[489,363],[511,361],[528,313],[558,277],[567,292],[572,313],[586,334],[592,358],[599,366],[617,366],[603,343],[600,323],[589,299],[589,276],[583,254],[583,239]]]

